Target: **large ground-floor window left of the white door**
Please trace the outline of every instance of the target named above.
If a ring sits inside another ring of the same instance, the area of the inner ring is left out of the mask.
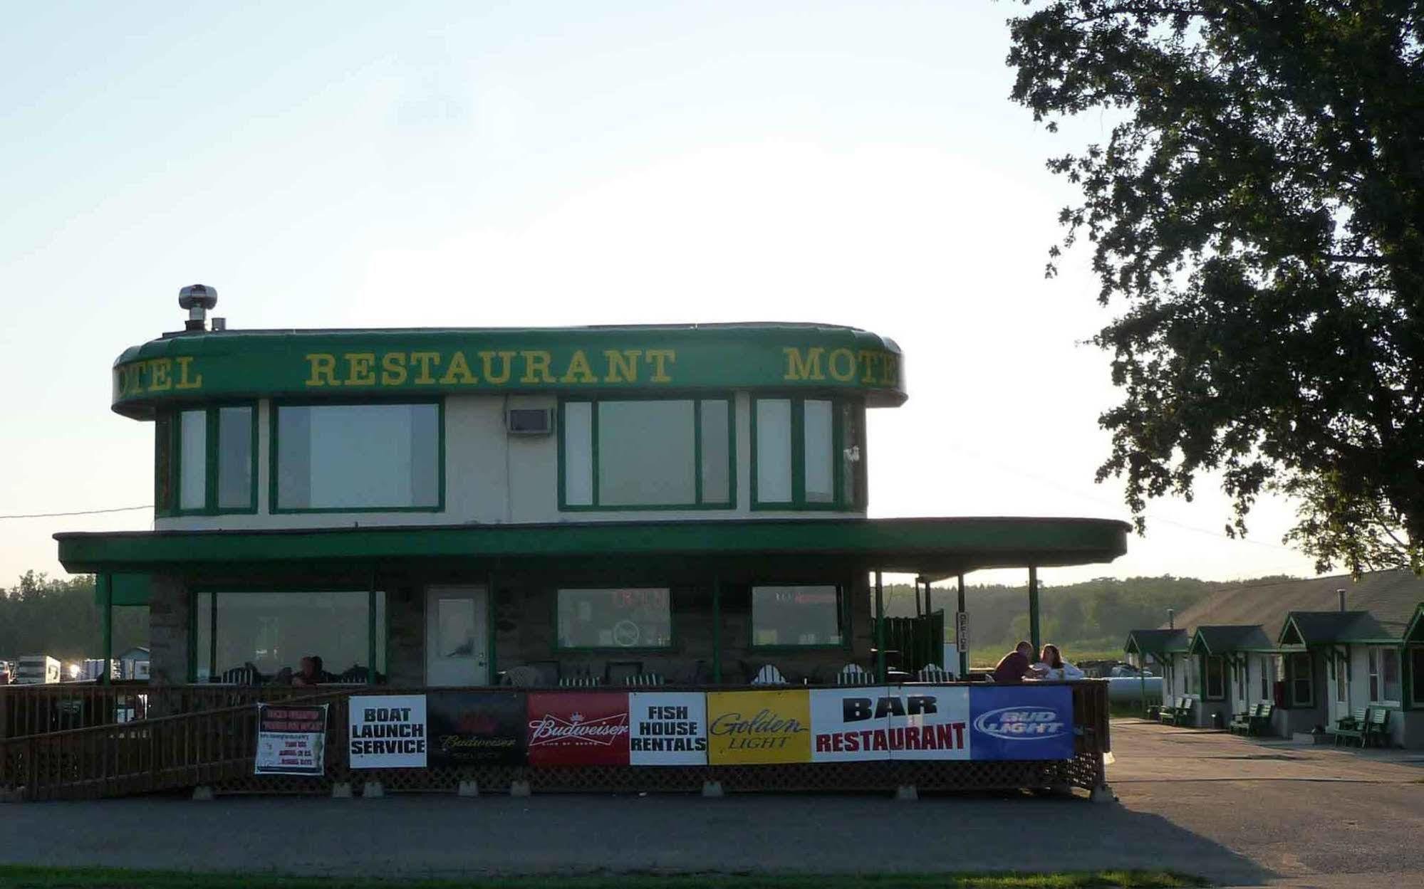
[[[386,671],[386,595],[366,590],[198,593],[199,683],[376,681]],[[372,629],[375,627],[375,646]]]

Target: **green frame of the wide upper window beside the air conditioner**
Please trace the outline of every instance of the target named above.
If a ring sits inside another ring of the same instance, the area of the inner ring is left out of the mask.
[[[634,401],[686,401],[692,404],[692,501],[685,504],[604,504],[600,491],[600,405]],[[703,405],[726,404],[726,499],[708,499],[703,465]],[[574,445],[568,441],[568,408],[587,404],[590,411],[590,502],[570,502],[568,467]],[[560,512],[646,512],[668,509],[736,509],[736,398],[732,393],[679,395],[656,394],[639,397],[568,397],[558,401],[558,509]]]

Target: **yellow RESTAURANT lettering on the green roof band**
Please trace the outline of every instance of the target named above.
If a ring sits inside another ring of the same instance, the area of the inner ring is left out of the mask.
[[[582,348],[574,350],[567,361],[555,363],[554,354],[543,348],[477,351],[313,351],[305,356],[308,388],[330,385],[353,387],[399,387],[399,385],[507,385],[517,380],[520,385],[550,384],[597,384],[638,383],[639,377],[649,383],[672,383],[678,361],[675,348],[608,348],[590,356]],[[164,358],[167,360],[167,358]],[[187,358],[178,358],[185,361]],[[140,387],[130,390],[124,373],[131,366],[120,367],[120,394],[154,391]],[[181,376],[179,380],[185,380]],[[201,378],[199,378],[201,383]],[[185,388],[179,385],[178,388]]]

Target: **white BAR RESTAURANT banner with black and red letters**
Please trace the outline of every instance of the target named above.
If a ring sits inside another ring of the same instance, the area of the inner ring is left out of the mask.
[[[819,688],[810,693],[813,762],[968,760],[968,688]]]

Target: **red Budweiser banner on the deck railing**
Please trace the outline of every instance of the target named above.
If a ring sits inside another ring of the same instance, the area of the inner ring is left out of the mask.
[[[530,765],[628,765],[627,691],[528,696]]]

